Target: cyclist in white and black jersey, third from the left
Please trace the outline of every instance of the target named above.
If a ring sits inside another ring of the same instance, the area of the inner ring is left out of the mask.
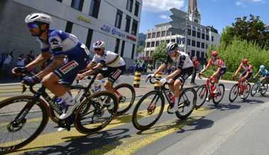
[[[160,80],[160,85],[164,85],[165,82],[168,82],[170,84],[170,90],[174,93],[174,97],[172,97],[174,100],[171,100],[172,105],[170,105],[171,108],[169,109],[170,113],[174,113],[178,110],[178,106],[175,106],[175,102],[177,102],[180,97],[180,85],[182,85],[182,82],[186,80],[187,77],[192,75],[193,64],[189,55],[179,50],[177,43],[168,43],[166,50],[168,55],[165,58],[165,63],[160,65],[155,73],[148,75],[148,78],[154,77],[156,74],[167,68],[170,60],[177,64],[177,68],[174,72]]]

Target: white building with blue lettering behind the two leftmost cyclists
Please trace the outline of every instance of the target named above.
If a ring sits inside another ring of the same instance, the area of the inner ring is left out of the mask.
[[[142,0],[1,0],[0,51],[39,53],[39,44],[28,32],[24,18],[43,12],[53,18],[50,28],[75,34],[90,50],[94,41],[105,41],[107,50],[119,53],[127,65],[132,65],[142,3]]]

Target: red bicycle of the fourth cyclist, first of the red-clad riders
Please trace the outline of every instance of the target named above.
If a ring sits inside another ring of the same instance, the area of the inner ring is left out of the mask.
[[[202,79],[201,77],[202,74],[199,74],[198,77],[199,79]],[[219,102],[224,97],[225,93],[225,87],[224,84],[219,83],[219,90],[214,93],[216,89],[216,83],[212,82],[212,77],[207,77],[207,81],[204,85],[200,85],[197,89],[197,104],[195,105],[195,109],[199,109],[199,107],[202,107],[204,105],[204,102],[206,101],[207,97],[209,97],[209,101],[212,99],[214,105],[218,105]],[[211,86],[210,86],[211,84]],[[214,85],[213,85],[214,84]],[[200,101],[200,102],[199,102]]]

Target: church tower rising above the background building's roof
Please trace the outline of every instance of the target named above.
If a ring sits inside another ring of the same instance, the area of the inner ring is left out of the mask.
[[[199,14],[198,9],[197,9],[197,0],[189,0],[187,11],[188,11],[190,21],[193,21],[199,24],[201,23],[201,15]]]

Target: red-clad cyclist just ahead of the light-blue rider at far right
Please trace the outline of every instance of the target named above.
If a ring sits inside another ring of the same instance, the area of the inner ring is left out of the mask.
[[[240,75],[240,81],[245,81],[247,83],[248,80],[251,80],[251,76],[253,74],[253,66],[248,63],[247,58],[243,58],[233,77],[236,77],[241,69],[243,69],[243,73]],[[241,97],[243,97],[243,95],[241,95]]]

